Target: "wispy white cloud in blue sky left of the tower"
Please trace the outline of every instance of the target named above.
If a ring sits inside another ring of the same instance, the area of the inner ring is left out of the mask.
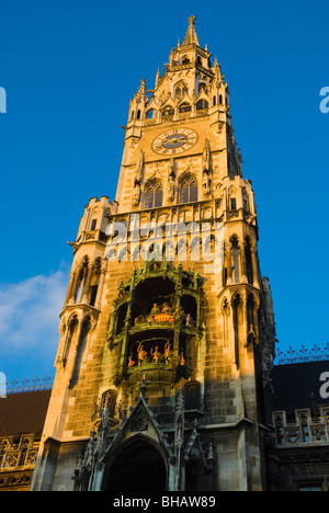
[[[0,284],[0,357],[25,351],[55,354],[67,286],[63,271]]]

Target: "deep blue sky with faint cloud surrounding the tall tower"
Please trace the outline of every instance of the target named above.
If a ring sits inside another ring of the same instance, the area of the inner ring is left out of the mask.
[[[258,205],[281,350],[329,342],[329,86],[324,0],[1,0],[0,371],[54,375],[58,316],[83,207],[115,196],[131,98],[197,15],[229,83]]]

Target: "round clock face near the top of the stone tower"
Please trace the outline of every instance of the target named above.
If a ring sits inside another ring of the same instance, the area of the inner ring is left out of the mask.
[[[161,155],[178,155],[192,148],[197,141],[195,132],[189,128],[167,130],[152,142],[152,150]]]

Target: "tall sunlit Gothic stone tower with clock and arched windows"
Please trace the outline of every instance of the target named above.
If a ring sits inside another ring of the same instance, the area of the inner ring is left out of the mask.
[[[269,488],[271,292],[194,16],[164,70],[131,101],[115,201],[92,198],[71,243],[33,490]]]

